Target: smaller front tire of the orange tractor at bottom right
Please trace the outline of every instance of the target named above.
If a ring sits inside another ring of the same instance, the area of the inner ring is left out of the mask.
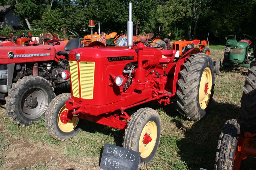
[[[240,121],[228,120],[222,130],[218,141],[214,169],[232,170],[235,163],[235,154],[240,131]]]

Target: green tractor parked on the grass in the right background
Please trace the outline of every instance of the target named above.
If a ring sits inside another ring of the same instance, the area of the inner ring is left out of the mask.
[[[241,35],[241,41],[236,41],[236,35],[228,35],[231,37],[226,42],[226,48],[224,53],[224,59],[221,63],[220,58],[216,59],[215,63],[215,74],[220,73],[221,67],[229,66],[242,66],[250,67],[250,63],[253,61],[254,48],[251,46],[250,36],[243,34]]]

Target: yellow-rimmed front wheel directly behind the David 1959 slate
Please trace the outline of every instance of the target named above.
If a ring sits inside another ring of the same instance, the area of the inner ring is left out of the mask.
[[[141,108],[134,113],[125,129],[123,146],[140,152],[139,167],[145,166],[146,162],[153,159],[160,141],[160,133],[161,122],[156,110]]]

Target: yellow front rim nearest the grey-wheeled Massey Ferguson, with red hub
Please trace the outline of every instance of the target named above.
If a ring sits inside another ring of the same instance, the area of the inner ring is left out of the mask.
[[[60,128],[61,131],[68,133],[68,132],[73,131],[73,130],[76,128],[76,126],[77,126],[77,124],[78,124],[78,122],[79,122],[79,118],[78,118],[78,117],[73,117],[72,120],[71,120],[71,121],[68,121],[67,123],[61,122],[61,121],[60,121],[60,115],[61,115],[61,113],[62,113],[63,111],[65,111],[65,110],[68,110],[68,109],[66,108],[66,105],[64,105],[64,106],[60,109],[60,111],[59,111],[59,114],[58,114],[58,126],[59,126],[59,128]]]

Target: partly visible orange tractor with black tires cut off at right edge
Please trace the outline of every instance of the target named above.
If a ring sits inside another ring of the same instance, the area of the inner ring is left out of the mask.
[[[221,130],[215,169],[239,170],[242,160],[256,156],[256,61],[245,78],[241,98],[240,120],[228,120]]]

